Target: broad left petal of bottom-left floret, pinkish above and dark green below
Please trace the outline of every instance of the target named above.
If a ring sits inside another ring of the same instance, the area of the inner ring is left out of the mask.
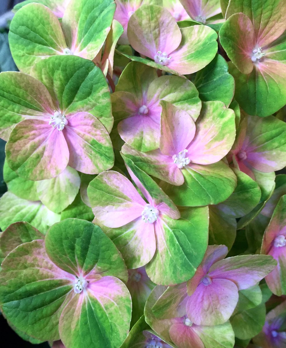
[[[73,284],[49,261],[44,241],[19,245],[1,266],[1,310],[8,321],[36,339],[58,340],[59,316]]]

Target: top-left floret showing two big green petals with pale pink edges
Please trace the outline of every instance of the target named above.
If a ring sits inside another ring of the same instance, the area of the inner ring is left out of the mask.
[[[17,11],[10,24],[9,45],[20,71],[53,55],[76,55],[93,60],[110,31],[115,2],[71,0],[61,23],[40,3]]]

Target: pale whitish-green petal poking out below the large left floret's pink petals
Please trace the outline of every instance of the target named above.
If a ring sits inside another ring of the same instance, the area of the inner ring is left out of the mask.
[[[53,179],[37,181],[40,200],[54,213],[62,212],[76,198],[80,177],[76,169],[69,166]]]

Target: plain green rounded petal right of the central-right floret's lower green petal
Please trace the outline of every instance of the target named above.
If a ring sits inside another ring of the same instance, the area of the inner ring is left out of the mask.
[[[261,190],[257,182],[247,174],[233,168],[237,177],[237,186],[228,199],[222,202],[219,207],[226,214],[233,217],[241,217],[252,211],[259,203]]]

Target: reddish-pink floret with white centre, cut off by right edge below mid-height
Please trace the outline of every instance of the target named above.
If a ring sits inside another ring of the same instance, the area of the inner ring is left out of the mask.
[[[270,290],[277,296],[286,295],[286,195],[282,196],[264,232],[261,253],[273,256],[277,267],[265,277]]]

